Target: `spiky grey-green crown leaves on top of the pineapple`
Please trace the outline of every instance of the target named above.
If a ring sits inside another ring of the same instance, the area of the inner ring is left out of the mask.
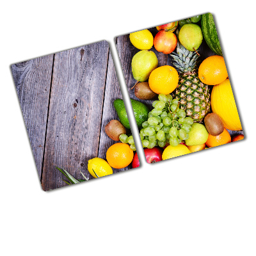
[[[180,42],[177,42],[177,53],[170,54],[175,63],[173,65],[178,68],[178,72],[186,73],[196,69],[198,64],[198,55],[196,52],[188,51]]]

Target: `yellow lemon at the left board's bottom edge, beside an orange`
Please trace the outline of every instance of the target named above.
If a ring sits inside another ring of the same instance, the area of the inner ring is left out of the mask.
[[[88,161],[88,171],[94,178],[113,174],[113,170],[108,162],[99,157],[95,157]]]

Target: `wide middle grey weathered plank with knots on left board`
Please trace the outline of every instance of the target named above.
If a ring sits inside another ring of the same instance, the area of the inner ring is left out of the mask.
[[[83,179],[80,168],[92,178],[87,164],[98,156],[108,52],[108,42],[102,41],[55,54],[42,174],[44,190],[66,185],[55,166]]]

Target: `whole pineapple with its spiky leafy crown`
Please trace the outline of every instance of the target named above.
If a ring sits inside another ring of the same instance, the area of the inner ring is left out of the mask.
[[[193,118],[194,122],[202,123],[210,111],[210,93],[207,84],[202,83],[198,77],[198,55],[188,51],[179,42],[177,53],[170,55],[179,72],[179,84],[172,93],[173,99],[179,100],[180,108],[186,111],[186,116]]]

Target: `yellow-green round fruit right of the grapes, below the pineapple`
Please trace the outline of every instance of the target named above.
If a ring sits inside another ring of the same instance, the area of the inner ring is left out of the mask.
[[[207,141],[208,134],[209,133],[203,124],[194,123],[188,134],[189,138],[185,140],[185,143],[187,146],[202,145]]]

